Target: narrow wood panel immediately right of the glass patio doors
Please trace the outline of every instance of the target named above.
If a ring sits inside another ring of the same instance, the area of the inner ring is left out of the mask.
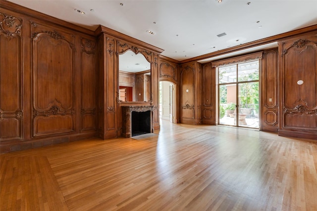
[[[278,130],[278,49],[263,52],[261,84],[260,130]]]

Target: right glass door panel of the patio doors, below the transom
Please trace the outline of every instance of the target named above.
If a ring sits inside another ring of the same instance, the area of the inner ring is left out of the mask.
[[[238,84],[240,127],[259,128],[259,82]]]

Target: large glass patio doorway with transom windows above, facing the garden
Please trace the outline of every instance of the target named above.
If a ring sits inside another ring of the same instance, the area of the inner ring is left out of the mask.
[[[218,67],[218,123],[259,128],[259,60]]]

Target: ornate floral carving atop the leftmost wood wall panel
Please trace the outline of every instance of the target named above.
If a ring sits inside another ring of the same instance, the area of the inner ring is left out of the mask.
[[[0,32],[7,39],[12,39],[14,36],[21,36],[22,20],[12,15],[0,13]]]

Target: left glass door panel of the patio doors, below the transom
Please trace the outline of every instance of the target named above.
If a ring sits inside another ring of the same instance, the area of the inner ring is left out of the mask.
[[[219,85],[219,124],[235,126],[236,120],[236,84]]]

